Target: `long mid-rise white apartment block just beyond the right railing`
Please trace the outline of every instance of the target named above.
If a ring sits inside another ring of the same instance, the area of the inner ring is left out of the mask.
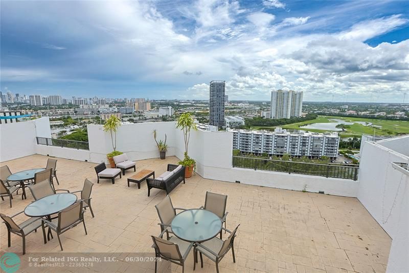
[[[275,132],[229,130],[233,132],[233,149],[243,153],[336,158],[339,136],[320,133],[290,133],[281,128]]]

